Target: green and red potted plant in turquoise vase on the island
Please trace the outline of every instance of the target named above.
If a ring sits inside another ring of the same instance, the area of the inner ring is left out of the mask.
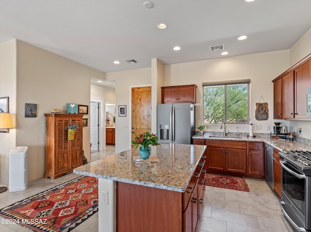
[[[135,136],[135,139],[132,140],[132,144],[135,148],[139,147],[138,154],[142,159],[148,159],[150,156],[151,146],[159,145],[160,143],[157,142],[157,136],[155,134],[150,134],[149,131],[144,132]]]

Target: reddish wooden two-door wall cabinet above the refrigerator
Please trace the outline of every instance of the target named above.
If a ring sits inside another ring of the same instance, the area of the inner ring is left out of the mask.
[[[161,87],[162,103],[196,103],[196,85]]]

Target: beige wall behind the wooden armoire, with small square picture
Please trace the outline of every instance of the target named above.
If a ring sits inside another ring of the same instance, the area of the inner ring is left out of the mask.
[[[89,105],[90,78],[105,77],[103,72],[18,40],[16,70],[17,94],[12,106],[17,113],[16,145],[28,146],[28,180],[32,181],[43,177],[45,170],[44,113],[50,113],[53,108],[66,112],[66,103]],[[37,104],[36,118],[24,117],[25,103]],[[83,150],[88,160],[89,144],[88,126],[83,128]],[[4,144],[4,147],[1,149],[5,151],[12,148],[11,144]],[[5,166],[8,166],[7,158],[6,161]],[[7,180],[8,168],[4,170],[4,176]]]

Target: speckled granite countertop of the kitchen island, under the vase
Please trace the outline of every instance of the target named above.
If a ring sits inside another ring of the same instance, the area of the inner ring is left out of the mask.
[[[165,144],[151,147],[151,155],[159,162],[135,164],[138,149],[130,149],[97,160],[73,170],[76,174],[125,182],[141,186],[185,192],[206,146]]]

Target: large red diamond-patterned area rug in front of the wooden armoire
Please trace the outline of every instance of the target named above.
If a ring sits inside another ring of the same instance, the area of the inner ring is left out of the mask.
[[[4,207],[0,216],[35,232],[69,232],[97,211],[98,179],[82,176]]]

